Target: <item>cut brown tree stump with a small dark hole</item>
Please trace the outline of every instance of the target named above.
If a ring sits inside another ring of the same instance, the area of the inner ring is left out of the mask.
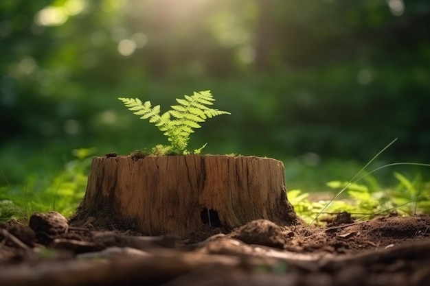
[[[284,165],[256,156],[95,157],[71,222],[181,238],[254,219],[300,221],[286,198]]]

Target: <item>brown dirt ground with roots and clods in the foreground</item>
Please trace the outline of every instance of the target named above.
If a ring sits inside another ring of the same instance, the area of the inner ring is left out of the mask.
[[[264,219],[190,239],[69,226],[36,213],[0,224],[0,285],[429,285],[430,216],[324,227]]]

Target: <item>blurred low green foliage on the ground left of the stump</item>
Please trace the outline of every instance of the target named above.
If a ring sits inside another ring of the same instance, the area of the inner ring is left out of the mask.
[[[36,211],[72,215],[84,197],[94,151],[73,150],[75,158],[60,171],[33,172],[22,185],[0,187],[0,221],[14,218],[28,222]]]

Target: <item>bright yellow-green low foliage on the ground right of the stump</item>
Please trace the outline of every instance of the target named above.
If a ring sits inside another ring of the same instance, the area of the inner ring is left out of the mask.
[[[363,182],[328,182],[328,187],[346,190],[339,198],[332,195],[304,193],[299,189],[288,190],[288,201],[295,212],[308,224],[329,222],[343,211],[354,219],[372,219],[390,214],[419,215],[430,213],[430,182],[420,176],[413,180],[403,174],[394,173],[398,180],[394,187],[383,187],[379,180],[367,175]],[[422,195],[425,194],[425,195]]]

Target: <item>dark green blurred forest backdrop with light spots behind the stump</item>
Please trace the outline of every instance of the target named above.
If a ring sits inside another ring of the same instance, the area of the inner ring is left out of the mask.
[[[395,138],[383,163],[430,161],[428,0],[1,0],[0,54],[0,184],[167,143],[117,97],[204,90],[231,115],[190,149],[278,158],[294,188]]]

